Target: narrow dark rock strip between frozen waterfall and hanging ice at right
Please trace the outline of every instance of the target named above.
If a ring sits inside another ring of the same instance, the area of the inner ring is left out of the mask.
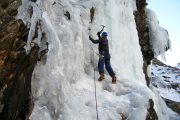
[[[154,53],[149,40],[149,29],[147,27],[147,17],[145,12],[146,5],[146,0],[136,0],[137,11],[134,13],[134,15],[139,36],[139,44],[141,46],[144,60],[143,71],[146,77],[146,83],[149,86],[150,79],[147,74],[147,67],[151,64],[151,60],[154,59]]]

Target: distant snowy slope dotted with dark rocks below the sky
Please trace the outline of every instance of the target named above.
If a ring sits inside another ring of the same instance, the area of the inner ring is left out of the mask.
[[[180,103],[180,69],[155,60],[152,66],[152,84],[163,98]]]

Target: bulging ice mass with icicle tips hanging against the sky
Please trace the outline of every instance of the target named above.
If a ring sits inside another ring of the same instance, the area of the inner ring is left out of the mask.
[[[165,52],[171,48],[168,31],[159,25],[159,21],[154,11],[146,9],[147,23],[149,28],[150,43],[155,57],[158,55],[166,61]]]

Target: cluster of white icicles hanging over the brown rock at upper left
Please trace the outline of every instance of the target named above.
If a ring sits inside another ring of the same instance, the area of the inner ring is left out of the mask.
[[[42,10],[37,3],[22,0],[22,5],[18,9],[18,19],[22,19],[25,25],[29,28],[27,44],[24,46],[28,54],[31,47],[37,44],[40,47],[42,38]]]

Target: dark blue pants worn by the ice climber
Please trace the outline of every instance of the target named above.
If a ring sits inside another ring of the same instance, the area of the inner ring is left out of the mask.
[[[111,77],[114,76],[115,73],[110,63],[110,54],[108,52],[103,52],[101,55],[99,57],[99,62],[98,62],[99,74],[104,73],[104,64],[105,64],[106,70],[108,71],[109,75]]]

